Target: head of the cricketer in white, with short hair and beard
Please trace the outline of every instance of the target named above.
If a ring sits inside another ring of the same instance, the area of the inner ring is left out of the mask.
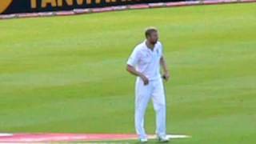
[[[151,44],[156,44],[158,42],[158,30],[154,27],[149,27],[145,30],[146,40]]]

